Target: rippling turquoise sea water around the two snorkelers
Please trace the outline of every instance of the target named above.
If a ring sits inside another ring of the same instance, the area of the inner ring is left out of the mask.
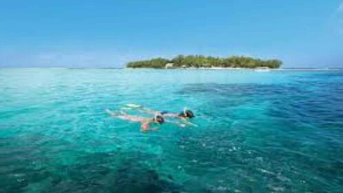
[[[343,192],[343,72],[2,69],[0,192]]]

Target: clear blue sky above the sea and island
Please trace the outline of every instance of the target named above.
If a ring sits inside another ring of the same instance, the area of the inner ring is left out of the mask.
[[[343,1],[0,1],[0,67],[120,68],[178,54],[343,68]]]

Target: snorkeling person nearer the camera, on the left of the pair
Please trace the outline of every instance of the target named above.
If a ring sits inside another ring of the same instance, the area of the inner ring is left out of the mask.
[[[108,112],[109,114],[111,114],[111,116],[118,118],[118,119],[123,119],[123,120],[127,120],[127,121],[134,121],[134,122],[140,122],[141,123],[141,131],[145,132],[147,130],[149,130],[149,124],[150,123],[158,123],[158,124],[163,124],[165,123],[165,119],[163,119],[162,114],[154,114],[154,117],[152,119],[149,118],[145,118],[145,117],[141,117],[141,116],[134,116],[134,115],[129,115],[126,114],[125,112],[112,112],[110,110],[105,110],[106,112]]]

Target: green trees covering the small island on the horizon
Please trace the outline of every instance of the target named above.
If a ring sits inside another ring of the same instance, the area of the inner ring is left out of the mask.
[[[172,63],[174,68],[280,68],[282,61],[277,59],[255,59],[252,57],[204,57],[201,55],[183,56],[174,59],[156,58],[144,61],[132,61],[127,63],[127,68],[165,68],[167,63]],[[171,64],[170,64],[171,65]]]

